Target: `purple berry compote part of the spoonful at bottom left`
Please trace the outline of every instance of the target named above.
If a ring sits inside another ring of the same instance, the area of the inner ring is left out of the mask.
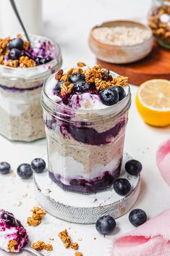
[[[12,234],[7,234],[8,230],[14,229]],[[1,236],[5,231],[5,238],[8,240],[17,241],[17,245],[14,247],[14,252],[20,252],[22,247],[28,243],[27,231],[20,223],[20,220],[14,218],[14,215],[11,212],[7,212],[5,210],[0,210],[0,232]]]

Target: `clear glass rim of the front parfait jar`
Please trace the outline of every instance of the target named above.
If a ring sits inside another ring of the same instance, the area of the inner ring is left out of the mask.
[[[88,66],[85,66],[85,67],[88,67]],[[67,70],[67,69],[64,69],[64,70]],[[103,70],[106,70],[103,68]],[[45,82],[43,83],[43,88],[42,88],[42,91],[41,91],[41,105],[42,107],[45,109],[45,110],[48,110],[48,111],[52,111],[54,112],[54,115],[57,113],[59,115],[63,115],[63,112],[62,110],[66,110],[70,113],[75,113],[76,115],[82,115],[82,116],[85,116],[87,114],[91,114],[91,115],[95,115],[95,114],[98,114],[99,115],[103,115],[106,111],[109,112],[109,115],[113,115],[114,112],[113,110],[116,110],[115,107],[119,108],[119,106],[121,106],[121,104],[124,104],[124,108],[122,109],[122,111],[124,109],[129,109],[130,107],[130,104],[131,104],[131,92],[130,92],[130,87],[129,87],[129,83],[128,85],[126,86],[126,88],[128,89],[127,91],[127,95],[124,97],[124,99],[122,99],[120,102],[117,102],[116,104],[114,105],[111,105],[111,106],[108,106],[108,107],[105,107],[103,109],[97,109],[97,110],[80,110],[80,109],[74,109],[72,107],[69,107],[67,105],[61,105],[61,104],[58,104],[57,102],[55,102],[53,99],[51,99],[48,94],[46,93],[46,85],[47,83],[49,82],[49,80],[51,80],[52,78],[54,78],[56,73],[54,73],[53,75],[51,75],[50,77],[48,77]],[[110,74],[113,75],[113,76],[118,76],[117,73],[114,73],[113,71],[110,70]],[[47,102],[47,104],[46,104]],[[54,106],[57,107],[57,111],[54,110]],[[60,113],[59,113],[60,111]],[[122,111],[120,111],[122,113]],[[116,112],[115,114],[119,115],[120,112]]]

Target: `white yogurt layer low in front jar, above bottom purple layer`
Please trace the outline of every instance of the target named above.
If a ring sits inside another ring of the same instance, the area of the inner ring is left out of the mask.
[[[77,162],[73,157],[62,157],[58,152],[51,154],[49,162],[51,172],[54,173],[54,176],[61,176],[61,182],[65,185],[69,185],[69,181],[72,178],[83,178],[89,181],[98,176],[103,176],[105,171],[116,170],[120,163],[120,156],[114,157],[114,159],[105,166],[95,165],[89,173],[85,173],[85,168],[81,162]]]

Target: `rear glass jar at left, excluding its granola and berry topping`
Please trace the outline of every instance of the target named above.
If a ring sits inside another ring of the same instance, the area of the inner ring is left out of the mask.
[[[61,67],[59,46],[48,38],[30,36],[31,41],[50,42],[54,59],[36,67],[0,65],[0,134],[10,140],[34,141],[46,136],[41,108],[44,80]]]

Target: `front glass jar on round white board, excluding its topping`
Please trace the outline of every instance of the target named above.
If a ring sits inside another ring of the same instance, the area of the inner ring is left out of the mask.
[[[116,105],[78,110],[49,96],[52,80],[54,75],[46,80],[41,94],[50,178],[64,190],[83,194],[109,188],[121,171],[129,86],[127,96]]]

